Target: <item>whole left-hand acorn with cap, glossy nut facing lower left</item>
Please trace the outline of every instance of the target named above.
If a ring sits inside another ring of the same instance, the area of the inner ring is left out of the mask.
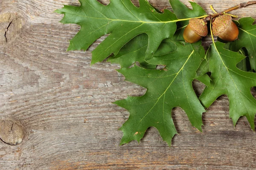
[[[186,26],[183,38],[186,42],[198,42],[202,37],[207,36],[207,22],[203,19],[192,18],[189,20],[189,25]]]

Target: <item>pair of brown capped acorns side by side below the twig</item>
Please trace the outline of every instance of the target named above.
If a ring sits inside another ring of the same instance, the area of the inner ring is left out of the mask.
[[[239,30],[230,15],[221,15],[212,20],[212,33],[224,41],[234,41],[238,38]],[[183,38],[186,42],[198,42],[208,34],[207,21],[192,18],[186,26]]]

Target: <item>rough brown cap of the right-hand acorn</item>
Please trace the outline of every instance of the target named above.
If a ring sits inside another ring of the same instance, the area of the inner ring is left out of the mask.
[[[215,36],[220,35],[228,26],[230,26],[232,22],[232,18],[230,15],[221,15],[216,17],[215,20],[212,22],[212,32]]]

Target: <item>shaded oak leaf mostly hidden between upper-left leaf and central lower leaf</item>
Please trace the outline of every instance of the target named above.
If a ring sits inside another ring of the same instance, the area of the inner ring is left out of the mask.
[[[148,47],[148,36],[146,34],[140,34],[129,42],[127,42],[119,51],[116,56],[108,59],[111,63],[119,63],[121,67],[130,67],[134,62],[139,62],[140,67],[155,69],[156,65],[149,64],[145,61],[146,50]],[[175,51],[177,46],[172,42],[171,38],[164,39],[157,51],[154,53],[166,54]]]

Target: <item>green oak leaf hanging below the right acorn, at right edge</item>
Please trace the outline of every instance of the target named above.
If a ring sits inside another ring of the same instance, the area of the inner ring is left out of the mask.
[[[211,86],[204,89],[199,99],[204,107],[208,108],[218,96],[226,94],[234,126],[239,117],[246,116],[254,130],[256,99],[250,89],[256,86],[256,73],[237,68],[237,63],[244,57],[238,52],[224,49],[222,42],[213,42],[207,51],[206,59],[198,69],[198,75],[211,72]]]

